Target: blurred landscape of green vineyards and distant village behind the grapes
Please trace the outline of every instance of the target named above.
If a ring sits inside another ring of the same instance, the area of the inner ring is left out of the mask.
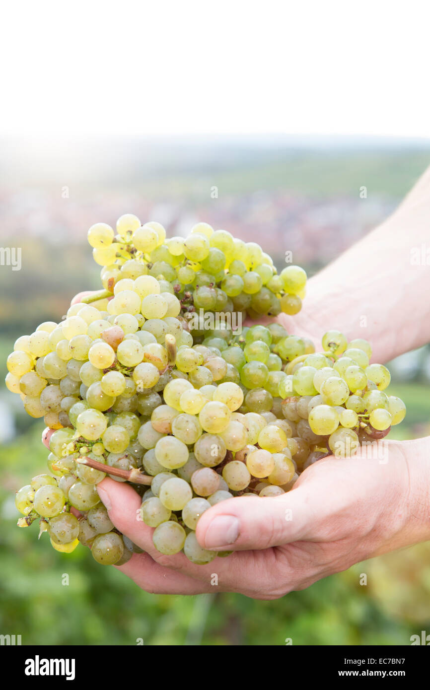
[[[130,212],[168,235],[202,220],[284,253],[313,275],[387,217],[430,163],[429,141],[380,137],[152,136],[0,139],[0,370],[14,339],[59,320],[99,286],[86,243],[97,221]],[[364,191],[365,188],[365,191]],[[306,309],[306,299],[304,301]],[[329,326],[330,324],[328,324]],[[335,324],[333,324],[335,327]],[[407,404],[391,437],[430,433],[430,351],[389,364]],[[430,630],[430,546],[420,544],[274,602],[242,595],[151,595],[79,547],[52,550],[17,529],[14,491],[46,471],[43,422],[0,391],[0,632],[23,644],[409,644]],[[69,584],[63,585],[63,574]],[[360,585],[367,574],[367,586]]]

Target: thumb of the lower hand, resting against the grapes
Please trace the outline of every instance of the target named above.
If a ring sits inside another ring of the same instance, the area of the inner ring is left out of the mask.
[[[306,537],[311,519],[303,489],[274,498],[236,498],[205,511],[196,536],[204,549],[268,549]]]

